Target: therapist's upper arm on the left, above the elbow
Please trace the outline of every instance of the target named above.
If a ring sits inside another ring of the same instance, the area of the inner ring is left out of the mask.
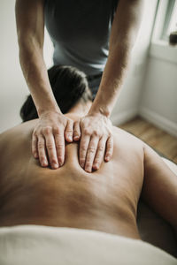
[[[44,0],[16,0],[15,13],[18,39],[26,42],[35,37],[40,47],[44,35]]]

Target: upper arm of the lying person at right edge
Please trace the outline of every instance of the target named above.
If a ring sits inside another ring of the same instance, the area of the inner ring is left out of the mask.
[[[177,175],[150,147],[144,147],[142,198],[177,229]]]

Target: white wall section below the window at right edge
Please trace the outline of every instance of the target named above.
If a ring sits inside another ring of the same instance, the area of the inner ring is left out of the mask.
[[[177,136],[177,62],[150,56],[143,82],[141,116]]]

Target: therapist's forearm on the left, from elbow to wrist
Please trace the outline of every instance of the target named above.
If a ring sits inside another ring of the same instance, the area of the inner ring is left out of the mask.
[[[19,41],[19,60],[27,86],[40,116],[43,111],[58,111],[58,104],[50,87],[47,69],[42,57],[42,49],[35,39]]]

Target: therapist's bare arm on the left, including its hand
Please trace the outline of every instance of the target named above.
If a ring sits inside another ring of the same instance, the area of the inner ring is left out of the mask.
[[[65,140],[73,140],[73,121],[61,113],[50,87],[42,55],[43,8],[44,0],[17,0],[15,10],[20,64],[39,115],[33,155],[39,157],[42,166],[50,163],[56,169],[64,163]]]

